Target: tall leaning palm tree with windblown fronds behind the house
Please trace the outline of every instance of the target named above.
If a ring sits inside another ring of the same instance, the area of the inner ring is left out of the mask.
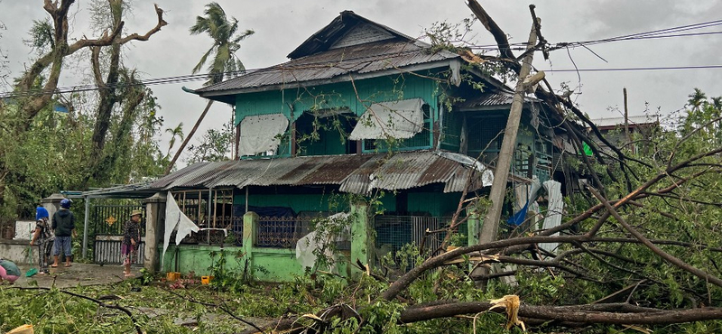
[[[213,39],[213,45],[203,54],[198,65],[196,65],[192,71],[193,74],[198,73],[206,64],[208,57],[213,55],[213,61],[208,65],[208,81],[204,83],[204,86],[208,86],[221,82],[227,77],[232,78],[245,72],[243,62],[236,56],[236,51],[241,48],[240,42],[252,35],[254,31],[246,30],[239,34],[238,20],[236,20],[235,17],[231,17],[230,20],[228,20],[226,12],[216,2],[206,5],[206,10],[203,11],[203,14],[205,14],[205,16],[196,17],[196,24],[191,26],[189,31],[191,35],[205,32]],[[183,144],[180,144],[178,152],[175,153],[173,160],[171,160],[171,163],[165,170],[166,174],[171,172],[173,164],[178,160],[180,153],[186,147],[186,144],[188,144],[193,134],[195,134],[200,122],[203,121],[212,104],[213,100],[208,100],[208,105],[203,109],[196,125],[193,125],[190,133],[186,136]]]

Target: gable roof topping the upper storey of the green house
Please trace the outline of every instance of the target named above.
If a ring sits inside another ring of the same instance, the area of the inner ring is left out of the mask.
[[[401,70],[429,70],[460,66],[461,57],[449,51],[430,51],[420,42],[353,12],[342,12],[289,54],[292,60],[234,79],[196,89],[207,97],[235,103],[236,94],[367,79]],[[456,64],[456,65],[454,65]]]

